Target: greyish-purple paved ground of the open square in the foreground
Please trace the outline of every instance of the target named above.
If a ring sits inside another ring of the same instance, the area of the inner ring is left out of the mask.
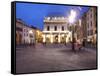
[[[17,73],[96,69],[96,65],[96,50],[89,48],[76,52],[63,44],[16,48]]]

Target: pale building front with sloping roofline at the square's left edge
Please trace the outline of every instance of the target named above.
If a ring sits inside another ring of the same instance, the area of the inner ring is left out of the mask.
[[[21,19],[16,20],[16,44],[35,43],[35,27],[26,25]]]

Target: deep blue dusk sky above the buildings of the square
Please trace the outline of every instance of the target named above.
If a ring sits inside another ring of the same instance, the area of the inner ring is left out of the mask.
[[[70,10],[77,11],[77,19],[85,13],[89,7],[64,6],[33,3],[16,3],[16,18],[22,19],[27,25],[32,25],[43,30],[43,20],[46,16],[68,17]]]

